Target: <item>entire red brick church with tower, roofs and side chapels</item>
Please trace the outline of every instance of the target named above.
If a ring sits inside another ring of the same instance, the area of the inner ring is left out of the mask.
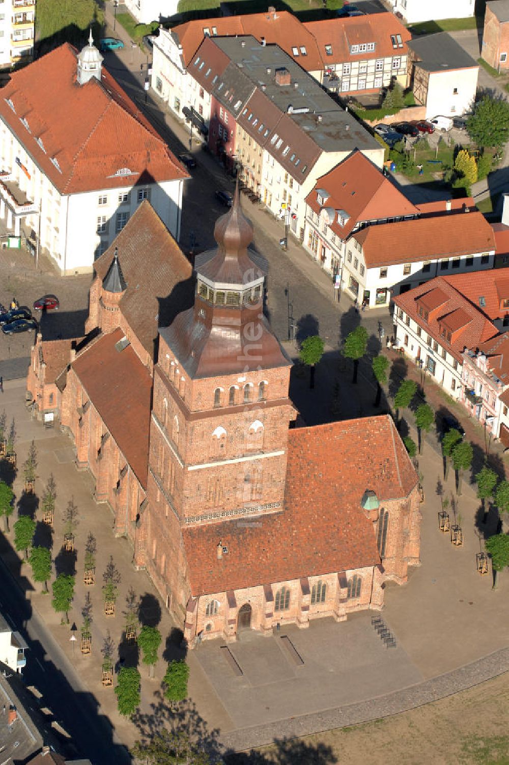
[[[418,479],[392,418],[293,427],[238,194],[214,237],[193,272],[143,202],[94,264],[86,337],[39,334],[28,370],[34,409],[73,439],[191,647],[380,609],[419,564]]]

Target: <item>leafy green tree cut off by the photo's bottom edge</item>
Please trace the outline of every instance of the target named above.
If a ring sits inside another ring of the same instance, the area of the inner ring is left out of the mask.
[[[191,741],[188,731],[170,732],[167,728],[146,741],[136,741],[131,754],[147,765],[212,765],[217,761]]]

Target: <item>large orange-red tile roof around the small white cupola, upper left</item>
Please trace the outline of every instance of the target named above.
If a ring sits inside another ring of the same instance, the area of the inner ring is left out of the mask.
[[[77,51],[69,44],[11,74],[0,117],[60,194],[188,177],[104,67],[101,82],[77,83]]]

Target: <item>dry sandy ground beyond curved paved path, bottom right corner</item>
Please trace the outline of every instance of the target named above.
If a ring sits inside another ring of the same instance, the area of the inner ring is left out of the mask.
[[[302,757],[295,742],[291,761],[294,765],[507,765],[508,681],[507,674],[500,675],[403,715],[305,737],[299,741]],[[269,762],[282,761],[275,747],[260,751]]]

